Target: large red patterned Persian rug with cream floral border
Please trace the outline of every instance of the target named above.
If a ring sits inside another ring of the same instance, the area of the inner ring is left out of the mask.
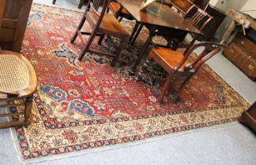
[[[159,104],[156,97],[164,83],[164,70],[152,63],[137,82],[136,72],[130,69],[145,41],[145,30],[135,46],[126,46],[114,68],[110,58],[96,54],[87,53],[83,61],[77,61],[81,42],[77,38],[71,44],[70,38],[81,16],[66,9],[32,6],[22,53],[36,69],[39,83],[32,124],[15,128],[13,134],[23,159],[143,143],[231,123],[248,108],[247,101],[206,64],[177,102],[171,103],[171,88],[164,104]],[[126,21],[122,25],[127,31],[134,27]],[[113,51],[109,40],[103,46],[96,42],[93,47]],[[175,82],[179,84],[179,79]]]

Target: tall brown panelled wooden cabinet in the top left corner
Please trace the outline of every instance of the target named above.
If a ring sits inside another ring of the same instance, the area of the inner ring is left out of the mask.
[[[2,49],[21,51],[31,6],[32,0],[6,0],[0,29]]]

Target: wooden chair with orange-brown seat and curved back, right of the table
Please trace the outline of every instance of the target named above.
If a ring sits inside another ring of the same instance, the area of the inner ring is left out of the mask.
[[[184,86],[189,82],[193,75],[198,72],[201,64],[218,53],[222,47],[222,45],[213,42],[201,42],[191,46],[184,55],[179,51],[171,49],[154,48],[149,52],[148,59],[145,61],[145,64],[143,64],[143,68],[141,68],[139,75],[141,75],[142,71],[145,71],[145,67],[148,66],[150,60],[156,61],[157,64],[160,64],[160,66],[164,68],[166,72],[168,72],[164,87],[157,99],[160,103],[162,103],[164,94],[170,86],[171,79],[173,79],[176,75],[186,75],[186,79],[179,86],[176,94],[174,94],[172,97],[172,101],[175,101],[182,92]],[[198,48],[203,48],[201,53],[194,59],[194,61],[189,61],[190,55],[195,49]]]

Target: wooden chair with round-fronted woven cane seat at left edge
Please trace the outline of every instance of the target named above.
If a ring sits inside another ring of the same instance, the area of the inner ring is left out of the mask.
[[[9,113],[0,113],[0,117],[17,118],[17,120],[0,123],[0,128],[28,125],[32,111],[32,98],[36,91],[36,72],[32,64],[21,54],[1,51],[1,49],[0,68],[0,101],[4,101],[0,108],[15,110]]]

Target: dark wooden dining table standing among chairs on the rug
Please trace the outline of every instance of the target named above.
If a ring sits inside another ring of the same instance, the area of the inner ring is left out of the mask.
[[[152,2],[152,4],[142,10],[141,4],[143,0],[118,0],[118,2],[121,5],[119,11],[125,8],[128,13],[134,16],[137,22],[144,24],[149,30],[149,37],[146,39],[137,57],[137,61],[134,63],[134,70],[140,63],[154,36],[158,35],[164,38],[175,38],[183,41],[188,32],[202,35],[198,28],[192,26],[169,6],[160,4],[160,2]]]

